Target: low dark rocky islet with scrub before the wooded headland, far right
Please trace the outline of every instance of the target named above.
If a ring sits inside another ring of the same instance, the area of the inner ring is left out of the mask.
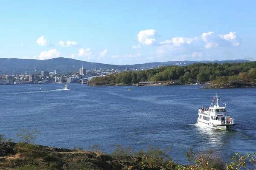
[[[221,89],[221,88],[254,88],[256,83],[250,83],[248,81],[230,81],[226,83],[220,83],[215,85],[207,85],[201,87],[201,89]]]

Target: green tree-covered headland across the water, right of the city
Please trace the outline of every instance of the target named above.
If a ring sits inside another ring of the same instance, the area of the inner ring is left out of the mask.
[[[188,66],[165,66],[145,71],[124,71],[107,77],[95,77],[88,85],[135,84],[143,81],[173,81],[194,83],[211,81],[212,84],[236,80],[256,79],[256,62],[194,63]]]

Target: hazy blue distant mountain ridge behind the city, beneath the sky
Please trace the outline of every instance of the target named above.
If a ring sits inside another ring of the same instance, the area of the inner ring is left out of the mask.
[[[250,60],[237,59],[237,60],[223,60],[223,61],[200,61],[203,63],[207,62],[251,62]],[[156,67],[157,65],[174,65],[176,63],[186,63],[186,65],[192,63],[198,63],[198,61],[168,61],[168,62],[148,62],[144,64],[134,64],[134,65],[111,65],[111,64],[102,64],[98,62],[86,62],[70,58],[53,58],[53,59],[16,59],[16,58],[0,58],[0,75],[3,74],[32,74],[40,73],[41,71],[54,71],[57,70],[61,73],[67,73],[72,71],[79,71],[81,65],[87,70],[94,69],[119,69],[125,70],[125,68],[151,68]],[[35,72],[36,69],[36,72]]]

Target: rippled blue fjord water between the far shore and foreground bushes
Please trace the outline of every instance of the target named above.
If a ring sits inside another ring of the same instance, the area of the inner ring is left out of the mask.
[[[69,84],[71,90],[59,90],[63,86],[1,85],[0,133],[14,138],[20,129],[37,129],[38,144],[83,149],[102,144],[106,152],[113,144],[134,150],[172,147],[170,155],[180,163],[186,163],[189,147],[216,150],[224,160],[256,151],[255,88]],[[231,130],[197,125],[198,108],[209,107],[216,92],[238,124]]]

